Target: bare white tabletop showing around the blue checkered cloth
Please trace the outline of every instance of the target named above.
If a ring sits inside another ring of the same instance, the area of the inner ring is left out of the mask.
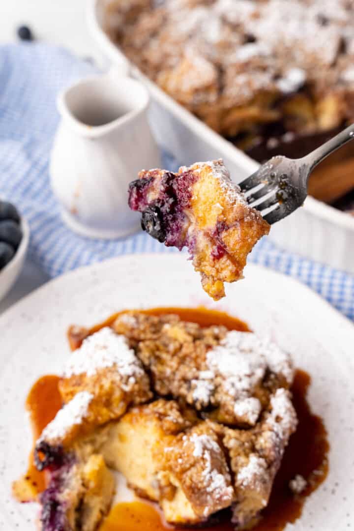
[[[102,62],[86,24],[88,0],[0,0],[0,44],[16,41],[16,28],[29,25],[38,40],[65,46],[82,57]],[[48,280],[29,260],[10,293],[0,301],[0,313]]]

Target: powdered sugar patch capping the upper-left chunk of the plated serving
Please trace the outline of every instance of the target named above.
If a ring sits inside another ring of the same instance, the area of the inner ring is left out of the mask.
[[[128,347],[124,336],[116,334],[105,327],[85,339],[80,348],[75,350],[65,364],[64,378],[74,374],[93,376],[100,369],[115,367],[119,374],[127,379],[128,386],[135,383],[135,378],[144,371],[134,350]]]

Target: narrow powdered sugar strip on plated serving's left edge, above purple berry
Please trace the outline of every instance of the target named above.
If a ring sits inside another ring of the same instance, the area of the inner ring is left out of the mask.
[[[87,391],[77,393],[42,431],[39,441],[61,441],[74,425],[80,425],[87,416],[93,395]]]

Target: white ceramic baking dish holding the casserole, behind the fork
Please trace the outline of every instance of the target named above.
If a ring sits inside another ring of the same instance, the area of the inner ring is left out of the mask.
[[[93,37],[113,65],[129,69],[148,87],[151,126],[158,143],[181,164],[222,158],[235,182],[253,173],[258,162],[235,148],[200,119],[170,98],[130,65],[103,29],[106,0],[89,0],[88,21]],[[270,238],[281,247],[354,273],[354,217],[308,197],[304,207],[272,226]]]

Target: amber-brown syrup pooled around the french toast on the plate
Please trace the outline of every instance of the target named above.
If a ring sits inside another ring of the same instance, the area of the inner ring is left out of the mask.
[[[156,308],[145,310],[151,315],[175,313],[181,319],[197,322],[201,326],[223,324],[229,330],[248,331],[247,324],[227,313],[206,310],[204,308]],[[116,316],[87,331],[86,335],[109,326]],[[82,340],[83,338],[81,338]],[[77,337],[75,338],[77,341]],[[75,346],[79,346],[76,343]],[[36,440],[46,424],[61,407],[58,392],[57,376],[43,376],[32,387],[26,407],[30,413],[33,439]],[[313,415],[306,400],[310,385],[310,376],[301,370],[296,371],[292,386],[293,405],[295,406],[299,424],[297,431],[291,436],[285,451],[281,467],[275,478],[269,505],[263,511],[260,521],[252,528],[253,531],[281,531],[288,523],[294,523],[301,515],[306,498],[324,481],[328,472],[327,454],[329,443],[322,419]],[[297,474],[306,481],[306,489],[301,495],[294,495],[289,489],[289,481]],[[33,466],[32,452],[29,469],[24,478],[29,477],[32,492],[40,493],[46,485],[45,473],[38,472]],[[23,479],[16,484],[21,484]],[[34,485],[35,484],[35,485]],[[16,489],[15,495],[19,498]],[[35,496],[32,496],[34,499]],[[29,498],[31,499],[31,498]],[[22,501],[29,501],[22,500]],[[177,529],[163,522],[160,512],[154,504],[143,500],[117,503],[103,521],[100,531],[165,531]],[[192,531],[184,527],[184,531]],[[230,513],[223,511],[220,521],[215,525],[204,527],[204,531],[234,531],[230,522]]]

